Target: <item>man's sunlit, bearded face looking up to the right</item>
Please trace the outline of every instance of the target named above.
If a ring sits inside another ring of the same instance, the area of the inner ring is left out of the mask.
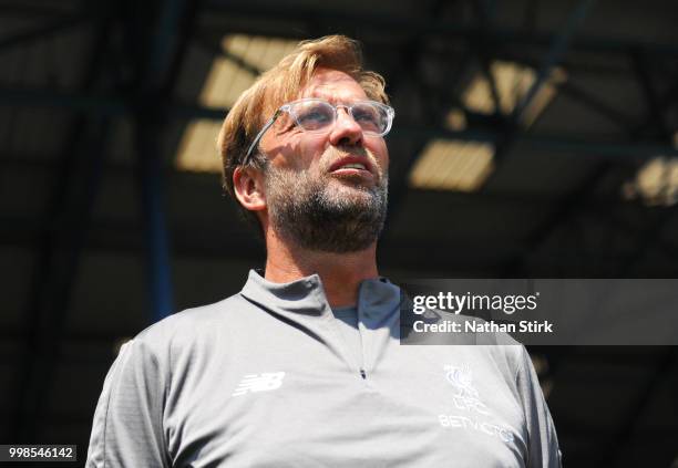
[[[349,75],[320,69],[298,96],[333,105],[367,100]],[[383,138],[366,135],[348,110],[335,124],[308,133],[284,114],[259,148],[269,164],[265,191],[268,218],[280,237],[319,251],[349,252],[370,247],[387,210],[389,155]],[[345,167],[361,164],[362,168]]]

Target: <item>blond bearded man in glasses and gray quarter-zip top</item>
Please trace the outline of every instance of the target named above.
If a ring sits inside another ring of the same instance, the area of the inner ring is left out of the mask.
[[[355,41],[301,43],[234,105],[225,188],[266,242],[243,291],[125,344],[89,467],[558,466],[522,346],[401,346],[380,278],[384,82]]]

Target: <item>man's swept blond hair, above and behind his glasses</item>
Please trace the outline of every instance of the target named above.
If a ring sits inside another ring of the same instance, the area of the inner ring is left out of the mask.
[[[362,86],[369,98],[389,103],[383,77],[362,69],[362,52],[357,41],[328,35],[300,42],[238,97],[224,119],[217,147],[223,163],[223,187],[232,197],[233,173],[243,163],[251,141],[279,106],[298,97],[318,67],[345,72]],[[256,159],[253,158],[255,164]]]

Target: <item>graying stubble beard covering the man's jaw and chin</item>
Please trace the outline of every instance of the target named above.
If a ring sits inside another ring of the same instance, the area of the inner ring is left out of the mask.
[[[266,170],[271,227],[297,247],[321,252],[364,250],[381,235],[388,206],[388,175],[372,187],[327,173]]]

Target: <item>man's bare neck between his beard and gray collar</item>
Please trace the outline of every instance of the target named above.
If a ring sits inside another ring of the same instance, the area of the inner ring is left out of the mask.
[[[319,252],[291,246],[268,230],[266,251],[268,281],[286,283],[317,273],[332,308],[356,304],[360,282],[379,277],[377,242],[357,252]]]

